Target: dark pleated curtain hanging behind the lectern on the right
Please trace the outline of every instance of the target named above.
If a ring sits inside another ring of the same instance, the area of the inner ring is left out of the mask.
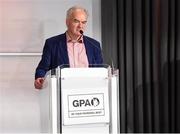
[[[101,9],[121,132],[180,132],[180,0],[102,0]]]

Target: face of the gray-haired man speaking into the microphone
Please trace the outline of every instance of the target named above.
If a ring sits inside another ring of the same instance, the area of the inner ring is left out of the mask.
[[[72,13],[72,15],[66,19],[66,25],[68,28],[68,32],[74,36],[80,36],[80,30],[85,30],[85,26],[87,23],[87,16],[84,11],[76,10]]]

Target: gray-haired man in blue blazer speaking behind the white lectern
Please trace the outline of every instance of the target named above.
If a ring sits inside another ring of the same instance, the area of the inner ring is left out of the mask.
[[[41,89],[47,71],[60,65],[89,67],[102,64],[100,43],[85,36],[88,12],[83,7],[73,6],[67,10],[67,31],[46,40],[42,58],[36,68],[34,86]]]

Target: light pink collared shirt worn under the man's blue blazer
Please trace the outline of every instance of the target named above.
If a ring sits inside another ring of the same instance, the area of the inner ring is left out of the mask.
[[[88,67],[89,63],[87,59],[86,49],[83,43],[83,38],[81,37],[79,41],[74,41],[69,37],[67,33],[66,37],[70,67]]]

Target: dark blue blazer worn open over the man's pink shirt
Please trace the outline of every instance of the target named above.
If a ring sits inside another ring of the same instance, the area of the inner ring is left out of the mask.
[[[83,41],[89,65],[102,64],[100,43],[87,36],[83,36]],[[65,33],[46,40],[41,61],[36,68],[35,79],[44,77],[47,71],[64,64],[69,65]]]

